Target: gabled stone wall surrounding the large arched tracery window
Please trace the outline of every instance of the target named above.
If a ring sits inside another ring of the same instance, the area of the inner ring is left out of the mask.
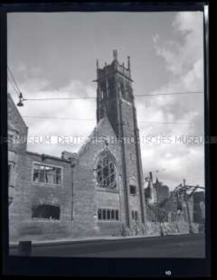
[[[109,140],[111,137],[115,137],[107,118],[101,120],[95,132],[98,138],[104,137]],[[117,190],[105,191],[104,188],[97,187],[96,160],[105,150],[109,151],[112,157],[116,159],[118,169]],[[118,222],[98,221],[97,211],[100,207],[119,207],[120,220],[125,223],[121,167],[120,145],[110,142],[109,146],[106,147],[104,142],[89,142],[82,147],[78,154],[77,165],[74,168],[74,237],[116,233]]]

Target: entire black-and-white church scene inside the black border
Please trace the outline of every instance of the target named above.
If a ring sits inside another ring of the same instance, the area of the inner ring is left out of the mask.
[[[206,257],[204,12],[7,15],[9,254]]]

